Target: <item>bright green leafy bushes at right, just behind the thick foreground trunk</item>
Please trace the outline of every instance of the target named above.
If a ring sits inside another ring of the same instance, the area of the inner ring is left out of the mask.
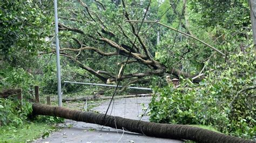
[[[220,65],[219,71],[207,72],[199,85],[183,79],[177,89],[171,85],[160,89],[159,97],[153,98],[150,104],[150,120],[210,125],[223,133],[253,139],[256,132],[254,91],[239,95],[233,109],[230,105],[237,92],[253,85],[256,78],[252,51],[250,48],[246,53],[230,55],[228,63]]]

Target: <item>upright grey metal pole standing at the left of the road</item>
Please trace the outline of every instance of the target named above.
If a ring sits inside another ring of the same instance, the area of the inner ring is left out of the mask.
[[[57,80],[58,80],[58,105],[62,106],[62,86],[60,81],[60,63],[59,63],[59,38],[58,38],[58,13],[57,0],[54,0],[54,17],[55,17],[55,41],[56,41],[56,55],[57,55]]]

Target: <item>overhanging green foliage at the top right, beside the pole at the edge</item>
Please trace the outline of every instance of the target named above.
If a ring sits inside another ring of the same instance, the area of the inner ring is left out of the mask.
[[[190,1],[190,6],[192,12],[201,15],[199,26],[236,29],[250,25],[248,1]]]

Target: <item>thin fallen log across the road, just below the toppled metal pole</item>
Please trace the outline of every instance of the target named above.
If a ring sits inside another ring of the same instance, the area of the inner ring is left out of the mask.
[[[120,95],[120,96],[114,96],[114,98],[131,98],[131,97],[146,97],[151,96],[152,94],[140,94],[140,95]],[[112,96],[89,96],[84,98],[73,98],[73,99],[62,99],[62,102],[67,101],[97,101],[100,99],[111,99]]]

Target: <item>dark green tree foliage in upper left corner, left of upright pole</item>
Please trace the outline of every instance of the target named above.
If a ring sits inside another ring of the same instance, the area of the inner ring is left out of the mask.
[[[30,1],[4,1],[0,6],[0,54],[12,66],[35,66],[38,50],[47,49],[51,17]]]

